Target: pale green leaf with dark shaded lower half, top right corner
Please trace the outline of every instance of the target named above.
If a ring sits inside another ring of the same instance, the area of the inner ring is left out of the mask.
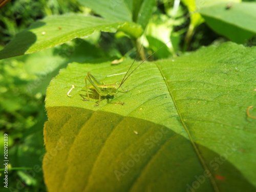
[[[256,3],[218,3],[200,9],[206,23],[234,42],[245,43],[256,35]]]

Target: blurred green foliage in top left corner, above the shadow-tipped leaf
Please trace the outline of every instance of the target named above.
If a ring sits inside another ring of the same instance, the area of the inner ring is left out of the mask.
[[[13,39],[37,19],[54,14],[81,12],[81,6],[75,0],[39,0],[11,1],[0,10],[0,45]]]

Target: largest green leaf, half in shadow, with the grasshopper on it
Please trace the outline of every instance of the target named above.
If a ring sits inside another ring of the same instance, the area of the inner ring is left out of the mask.
[[[124,105],[114,97],[94,106],[79,94],[88,71],[120,82],[106,76],[125,72],[130,59],[70,63],[47,90],[48,190],[255,191],[256,120],[246,114],[256,105],[255,54],[226,43],[145,62],[118,93]]]

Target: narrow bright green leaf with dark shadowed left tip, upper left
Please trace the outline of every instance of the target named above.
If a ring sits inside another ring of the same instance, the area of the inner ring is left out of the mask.
[[[77,37],[87,37],[96,31],[117,30],[122,30],[133,37],[139,37],[142,33],[141,26],[131,22],[115,22],[79,14],[46,17],[18,33],[0,51],[0,59],[52,48]]]

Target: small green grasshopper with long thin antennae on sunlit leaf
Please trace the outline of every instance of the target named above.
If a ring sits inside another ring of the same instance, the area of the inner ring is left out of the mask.
[[[170,42],[170,41],[168,41]],[[166,44],[168,44],[168,42]],[[165,44],[165,45],[166,45]],[[163,45],[163,46],[165,46]],[[163,47],[162,46],[162,47]],[[162,47],[160,47],[159,49],[161,49]],[[142,48],[142,47],[141,47]],[[159,50],[158,49],[158,50]],[[125,73],[122,81],[120,84],[116,83],[116,84],[105,84],[105,83],[100,83],[90,72],[87,73],[87,76],[85,78],[85,81],[86,81],[86,89],[87,89],[87,97],[88,99],[85,99],[83,98],[84,101],[89,101],[90,97],[89,97],[89,91],[88,90],[91,90],[94,94],[97,94],[99,95],[99,101],[97,104],[95,104],[95,106],[98,106],[100,104],[100,100],[101,100],[101,96],[107,96],[107,95],[110,95],[110,96],[115,96],[118,100],[118,104],[124,104],[123,102],[121,102],[119,100],[119,98],[117,97],[116,93],[117,93],[117,90],[121,87],[121,85],[124,83],[124,81],[138,68],[140,67],[140,65],[145,62],[149,57],[151,57],[153,54],[155,54],[158,50],[156,50],[154,53],[152,53],[151,55],[149,55],[146,59],[144,59],[129,75],[128,72],[131,70],[132,66],[134,65],[134,62],[135,62],[135,59],[132,63],[132,65],[130,66],[130,68],[128,69],[128,71]],[[136,56],[137,57],[137,56]],[[91,83],[91,86],[88,86],[88,81]],[[126,92],[126,91],[125,91]]]

